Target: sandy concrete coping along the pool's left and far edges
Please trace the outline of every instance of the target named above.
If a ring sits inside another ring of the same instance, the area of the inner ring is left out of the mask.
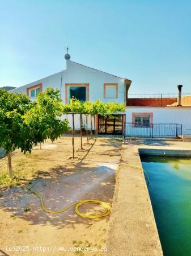
[[[191,156],[190,142],[138,141],[123,145],[121,163],[142,167],[139,154]],[[142,170],[120,166],[109,220],[107,255],[163,255]]]

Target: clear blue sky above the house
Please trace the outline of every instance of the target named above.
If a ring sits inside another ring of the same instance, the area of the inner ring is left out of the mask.
[[[191,1],[1,0],[0,86],[65,69],[66,46],[130,93],[191,92]]]

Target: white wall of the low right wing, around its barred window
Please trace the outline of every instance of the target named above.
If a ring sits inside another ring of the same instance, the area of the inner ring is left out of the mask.
[[[180,123],[184,129],[191,129],[191,108],[126,108],[126,122],[132,122],[133,113],[153,113],[153,123]]]

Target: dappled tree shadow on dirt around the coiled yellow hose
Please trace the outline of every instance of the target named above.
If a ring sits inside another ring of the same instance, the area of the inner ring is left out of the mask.
[[[60,210],[79,200],[101,200],[112,203],[114,192],[114,168],[107,166],[90,166],[87,163],[71,163],[70,166],[58,165],[50,172],[39,171],[39,177],[32,180],[29,187],[39,192],[49,210]],[[1,190],[1,207],[10,216],[22,218],[29,225],[53,225],[58,229],[63,227],[75,229],[75,224],[86,225],[100,219],[79,217],[74,207],[59,214],[44,212],[39,198],[23,186],[3,188]],[[24,209],[29,208],[27,212]],[[100,207],[84,205],[82,212],[100,212]],[[92,210],[91,210],[92,209]],[[101,210],[103,212],[103,210]],[[109,220],[109,216],[106,217]]]

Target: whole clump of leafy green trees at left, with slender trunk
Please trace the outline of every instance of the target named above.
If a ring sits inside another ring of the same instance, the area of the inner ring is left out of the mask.
[[[59,90],[46,89],[38,94],[37,102],[31,102],[25,94],[0,90],[0,147],[7,153],[10,177],[11,151],[20,148],[24,153],[31,152],[33,144],[60,137],[69,130],[69,122],[61,120],[61,115]]]

